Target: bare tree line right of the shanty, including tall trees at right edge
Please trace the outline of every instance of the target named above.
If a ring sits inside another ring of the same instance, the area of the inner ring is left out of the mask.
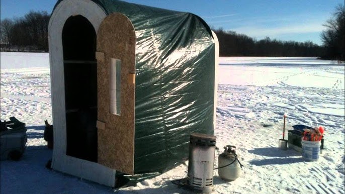
[[[213,29],[219,41],[220,56],[273,56],[273,57],[320,57],[323,59],[345,60],[345,9],[344,5],[335,7],[332,18],[323,26],[326,30],[320,35],[322,45],[311,41],[280,41],[266,37],[255,40],[234,31]]]

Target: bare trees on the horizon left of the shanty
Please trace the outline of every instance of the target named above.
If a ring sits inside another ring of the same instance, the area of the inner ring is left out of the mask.
[[[1,51],[48,52],[47,12],[30,11],[24,17],[1,21]]]

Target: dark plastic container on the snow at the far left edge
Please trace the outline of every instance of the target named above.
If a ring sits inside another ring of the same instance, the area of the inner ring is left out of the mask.
[[[27,142],[25,123],[11,117],[10,121],[1,122],[1,160],[19,160]]]

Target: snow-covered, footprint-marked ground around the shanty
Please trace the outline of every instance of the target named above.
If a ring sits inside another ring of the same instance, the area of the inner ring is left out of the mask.
[[[190,193],[171,183],[186,177],[188,162],[118,190],[45,168],[52,155],[43,140],[43,120],[52,120],[48,57],[1,53],[0,119],[15,116],[28,129],[22,159],[0,163],[1,193]],[[344,70],[314,58],[220,58],[215,167],[225,145],[237,147],[244,167],[232,182],[214,170],[214,193],[345,193]],[[278,149],[284,114],[288,130],[297,124],[325,128],[317,162]]]

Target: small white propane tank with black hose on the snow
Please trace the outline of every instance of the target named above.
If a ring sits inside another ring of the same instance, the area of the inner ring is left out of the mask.
[[[241,174],[241,165],[237,160],[236,147],[227,145],[218,156],[218,174],[224,180],[235,180]]]

